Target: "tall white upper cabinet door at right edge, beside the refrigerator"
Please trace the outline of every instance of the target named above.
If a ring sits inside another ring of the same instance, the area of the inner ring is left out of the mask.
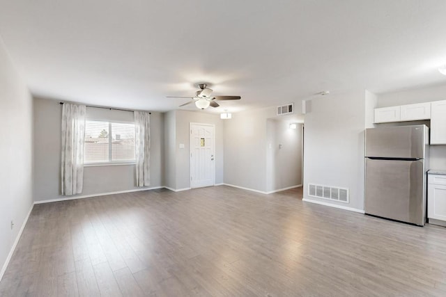
[[[446,144],[446,100],[431,102],[431,145]]]

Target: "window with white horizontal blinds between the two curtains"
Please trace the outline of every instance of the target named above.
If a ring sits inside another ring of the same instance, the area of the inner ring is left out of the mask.
[[[85,164],[134,161],[134,123],[85,121]]]

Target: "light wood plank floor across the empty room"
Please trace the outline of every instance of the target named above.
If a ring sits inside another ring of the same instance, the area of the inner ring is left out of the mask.
[[[228,186],[34,207],[0,296],[446,296],[446,228]]]

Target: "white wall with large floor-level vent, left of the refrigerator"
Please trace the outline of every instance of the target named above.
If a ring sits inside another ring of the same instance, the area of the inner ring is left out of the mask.
[[[312,100],[305,115],[305,200],[364,210],[365,111],[364,90]],[[350,202],[310,197],[309,183],[348,188]]]

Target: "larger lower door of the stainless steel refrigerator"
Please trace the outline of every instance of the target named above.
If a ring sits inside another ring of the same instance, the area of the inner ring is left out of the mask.
[[[366,158],[365,166],[365,213],[424,225],[424,160]]]

